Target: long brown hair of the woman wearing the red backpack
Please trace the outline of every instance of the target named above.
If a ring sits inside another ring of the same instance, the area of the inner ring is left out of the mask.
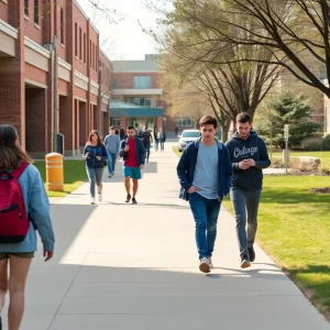
[[[0,124],[0,170],[19,168],[22,162],[32,160],[16,141],[19,134],[13,125]]]

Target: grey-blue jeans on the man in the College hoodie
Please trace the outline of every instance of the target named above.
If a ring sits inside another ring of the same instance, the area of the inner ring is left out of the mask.
[[[257,229],[257,208],[260,197],[261,190],[246,191],[238,187],[232,187],[230,189],[230,199],[237,219],[237,235],[241,258],[249,258],[248,248],[252,248],[254,244]]]

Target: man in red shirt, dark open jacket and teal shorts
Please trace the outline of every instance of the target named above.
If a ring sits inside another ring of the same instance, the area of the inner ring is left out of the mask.
[[[136,194],[139,188],[139,180],[142,178],[141,169],[145,163],[145,148],[142,140],[135,136],[135,129],[128,127],[128,139],[120,144],[120,156],[123,157],[124,166],[123,174],[125,178],[125,189],[128,193],[125,202],[130,202],[131,195],[131,178],[133,180],[133,198],[132,204],[138,204]]]

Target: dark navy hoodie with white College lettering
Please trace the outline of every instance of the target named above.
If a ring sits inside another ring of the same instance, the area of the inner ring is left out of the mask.
[[[260,190],[263,186],[263,170],[271,166],[267,147],[263,139],[256,132],[251,131],[250,136],[244,140],[235,132],[231,140],[226,143],[232,163],[232,186],[249,191]],[[239,168],[243,160],[252,158],[255,166],[248,169]]]

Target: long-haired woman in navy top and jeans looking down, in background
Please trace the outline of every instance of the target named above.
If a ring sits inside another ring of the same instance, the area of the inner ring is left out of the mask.
[[[90,204],[95,205],[95,185],[98,187],[98,199],[102,201],[102,176],[103,167],[107,164],[108,153],[98,131],[89,133],[88,141],[84,148],[86,170],[90,184]]]

